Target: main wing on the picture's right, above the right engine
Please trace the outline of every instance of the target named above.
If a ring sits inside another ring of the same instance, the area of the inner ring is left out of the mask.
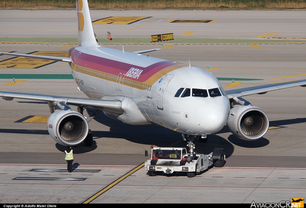
[[[233,97],[242,97],[246,95],[266,94],[269,91],[292,88],[297,86],[306,87],[306,79],[298,81],[282,82],[276,84],[266,84],[266,85],[260,85],[249,88],[240,88],[235,90],[228,90],[226,91],[226,94],[229,99],[232,99]]]

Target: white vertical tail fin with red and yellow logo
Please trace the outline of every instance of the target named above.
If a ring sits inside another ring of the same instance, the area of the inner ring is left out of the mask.
[[[79,45],[99,46],[92,28],[87,0],[76,0]]]

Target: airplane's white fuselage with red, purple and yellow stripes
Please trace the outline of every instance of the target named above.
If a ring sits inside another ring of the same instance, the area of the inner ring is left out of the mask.
[[[69,54],[73,77],[82,91],[90,98],[129,97],[145,118],[138,124],[154,123],[191,135],[213,134],[226,124],[229,99],[206,70],[104,47],[76,47]],[[93,60],[95,64],[89,65]],[[211,97],[208,90],[215,88],[219,96]],[[197,96],[193,89],[207,90],[208,95]]]

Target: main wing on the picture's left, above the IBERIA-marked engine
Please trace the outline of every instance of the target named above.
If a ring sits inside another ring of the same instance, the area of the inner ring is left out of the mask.
[[[118,114],[123,113],[123,110],[121,109],[122,105],[120,100],[74,98],[74,97],[40,95],[40,94],[20,93],[20,92],[4,92],[4,91],[0,91],[0,97],[2,97],[2,99],[4,100],[13,100],[14,98],[19,98],[19,99],[38,100],[45,102],[65,101],[67,105],[94,108]]]

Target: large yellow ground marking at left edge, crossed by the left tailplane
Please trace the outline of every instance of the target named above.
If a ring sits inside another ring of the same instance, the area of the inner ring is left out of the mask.
[[[59,56],[59,57],[68,57],[67,52],[63,51],[36,51],[29,53],[32,55],[45,55],[45,56]],[[43,59],[35,59],[28,57],[13,57],[3,61],[0,61],[0,68],[15,68],[15,69],[37,69],[42,66],[49,65],[51,63],[55,63],[57,61],[53,60],[43,60]]]

